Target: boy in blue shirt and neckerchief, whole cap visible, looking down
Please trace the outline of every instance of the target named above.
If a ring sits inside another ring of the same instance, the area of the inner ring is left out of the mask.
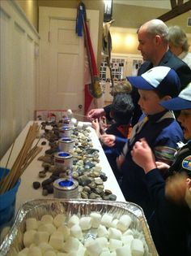
[[[182,130],[172,111],[159,105],[161,100],[167,101],[180,93],[180,80],[170,67],[153,67],[142,76],[127,79],[138,89],[138,104],[144,116],[134,126],[124,153],[117,158],[117,165],[122,171],[121,190],[125,200],[141,206],[146,219],[149,219],[153,205],[146,187],[145,173],[142,167],[134,163],[130,152],[142,137],[146,138],[153,151],[158,146],[176,148],[176,143],[183,140]]]

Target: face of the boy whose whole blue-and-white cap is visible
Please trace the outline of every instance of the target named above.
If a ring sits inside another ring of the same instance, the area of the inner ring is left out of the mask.
[[[164,110],[163,106],[159,105],[162,99],[159,98],[154,90],[138,89],[138,93],[140,95],[138,105],[141,106],[142,111],[146,115],[155,115]]]

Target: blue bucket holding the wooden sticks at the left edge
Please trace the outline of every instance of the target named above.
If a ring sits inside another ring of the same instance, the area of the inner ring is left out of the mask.
[[[9,171],[9,169],[5,171],[5,168],[0,167],[0,180],[2,180],[2,177],[5,177]],[[0,230],[4,226],[11,226],[15,219],[16,193],[19,184],[20,180],[17,181],[12,189],[6,191],[6,193],[0,194]]]

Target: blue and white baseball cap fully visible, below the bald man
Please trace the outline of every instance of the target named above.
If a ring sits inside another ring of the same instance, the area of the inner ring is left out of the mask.
[[[153,67],[141,76],[127,76],[127,80],[138,89],[156,90],[172,98],[180,93],[180,79],[170,67]]]

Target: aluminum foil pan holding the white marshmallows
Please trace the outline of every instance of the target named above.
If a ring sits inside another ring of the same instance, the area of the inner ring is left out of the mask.
[[[15,223],[7,234],[4,241],[0,245],[1,256],[15,256],[19,250],[23,249],[23,232],[25,232],[25,219],[35,217],[41,219],[42,215],[50,214],[66,214],[69,218],[71,215],[90,215],[91,211],[98,211],[100,214],[109,213],[114,218],[119,218],[121,215],[128,214],[133,222],[131,228],[138,234],[138,238],[142,239],[145,247],[144,256],[159,256],[155,249],[154,242],[151,238],[151,233],[146,223],[142,209],[131,202],[111,202],[101,200],[86,200],[86,199],[38,199],[30,202],[25,202],[20,207],[15,218]],[[94,236],[91,230],[87,232],[87,237]],[[142,236],[142,237],[140,237]]]

